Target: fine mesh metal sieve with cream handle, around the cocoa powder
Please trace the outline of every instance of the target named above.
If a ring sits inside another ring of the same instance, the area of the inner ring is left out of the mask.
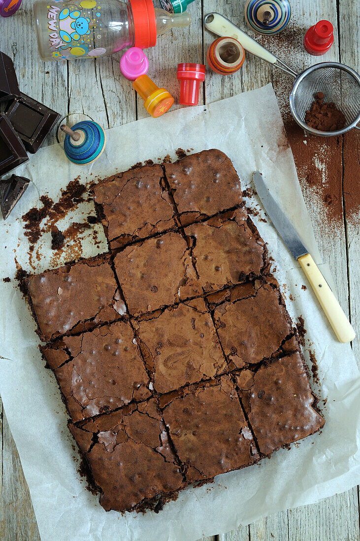
[[[360,122],[360,76],[356,71],[338,62],[315,64],[299,75],[272,52],[265,49],[255,39],[236,27],[223,15],[209,13],[204,19],[205,28],[218,36],[231,36],[251,52],[274,67],[295,77],[290,94],[290,110],[296,122],[304,130],[314,135],[329,137],[340,135],[351,128],[358,128]],[[346,126],[337,131],[319,131],[305,124],[305,114],[311,107],[318,92],[324,93],[324,102],[335,103],[346,118]]]

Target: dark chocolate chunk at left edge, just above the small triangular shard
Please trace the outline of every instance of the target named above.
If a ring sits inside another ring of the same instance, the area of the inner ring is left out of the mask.
[[[27,151],[8,117],[0,114],[0,176],[28,160]]]

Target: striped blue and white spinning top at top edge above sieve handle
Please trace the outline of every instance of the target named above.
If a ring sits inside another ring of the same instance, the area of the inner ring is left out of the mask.
[[[279,34],[290,21],[289,0],[247,0],[245,19],[258,34]]]

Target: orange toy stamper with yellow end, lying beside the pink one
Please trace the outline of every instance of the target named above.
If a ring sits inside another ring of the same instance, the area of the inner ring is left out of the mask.
[[[159,88],[147,75],[140,75],[134,82],[133,88],[144,100],[148,113],[157,118],[166,113],[174,103],[174,98],[165,88]]]

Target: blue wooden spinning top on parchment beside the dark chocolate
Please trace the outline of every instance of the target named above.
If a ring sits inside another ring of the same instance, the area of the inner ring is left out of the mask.
[[[61,126],[66,133],[64,139],[64,152],[70,162],[83,165],[97,160],[106,144],[104,130],[94,121],[84,120],[78,122],[70,129]]]

